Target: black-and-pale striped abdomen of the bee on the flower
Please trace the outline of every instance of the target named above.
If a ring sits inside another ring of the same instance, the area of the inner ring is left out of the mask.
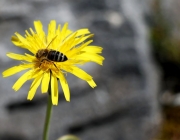
[[[55,51],[55,50],[50,50],[47,58],[49,60],[55,61],[55,62],[64,62],[64,61],[68,60],[67,56],[65,56],[63,53]]]

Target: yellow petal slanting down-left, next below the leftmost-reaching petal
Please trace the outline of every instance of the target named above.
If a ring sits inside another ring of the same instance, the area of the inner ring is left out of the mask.
[[[13,89],[15,90],[15,91],[18,91],[21,87],[22,87],[22,85],[27,81],[27,80],[29,80],[30,78],[29,78],[29,75],[32,73],[32,70],[29,70],[29,71],[27,71],[26,73],[24,73],[15,83],[14,83],[14,85],[13,85]]]

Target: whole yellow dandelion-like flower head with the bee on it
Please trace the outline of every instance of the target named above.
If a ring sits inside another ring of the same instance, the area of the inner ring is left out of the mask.
[[[3,77],[8,77],[23,70],[25,72],[13,85],[15,91],[27,81],[31,80],[27,99],[32,100],[37,88],[41,85],[41,92],[46,93],[51,86],[52,104],[58,104],[58,79],[62,86],[65,99],[70,101],[69,86],[65,78],[67,72],[74,74],[78,78],[85,80],[92,88],[96,86],[92,76],[87,74],[77,65],[87,62],[95,62],[102,65],[104,58],[99,55],[102,48],[90,45],[93,34],[88,29],[79,29],[75,32],[68,29],[68,23],[56,28],[56,21],[52,20],[48,26],[47,35],[43,31],[40,21],[34,21],[35,32],[30,28],[30,33],[26,30],[25,37],[19,33],[12,36],[14,45],[27,49],[31,54],[24,55],[7,53],[7,56],[20,60],[18,66],[11,67],[3,72]]]

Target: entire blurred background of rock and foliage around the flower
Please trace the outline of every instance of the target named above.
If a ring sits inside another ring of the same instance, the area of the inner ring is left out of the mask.
[[[179,0],[0,0],[0,72],[17,65],[7,52],[24,53],[10,41],[41,20],[87,27],[102,46],[103,67],[83,67],[97,83],[67,75],[71,102],[59,90],[53,107],[50,140],[74,134],[81,140],[180,139]],[[0,77],[0,140],[41,140],[47,95],[18,92],[21,76]],[[177,129],[176,129],[177,128]]]

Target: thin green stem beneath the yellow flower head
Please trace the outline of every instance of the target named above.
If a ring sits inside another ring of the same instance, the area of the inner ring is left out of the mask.
[[[52,112],[52,100],[51,100],[51,86],[49,84],[48,89],[48,102],[47,102],[47,109],[46,109],[46,119],[44,123],[44,131],[43,131],[43,140],[48,140],[48,131],[49,131],[49,124],[51,119],[51,112]]]

